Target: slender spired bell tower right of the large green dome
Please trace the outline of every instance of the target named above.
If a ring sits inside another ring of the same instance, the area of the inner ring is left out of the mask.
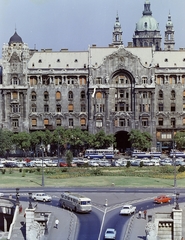
[[[165,39],[164,39],[164,50],[170,51],[174,50],[175,40],[174,40],[174,28],[173,22],[171,20],[171,15],[168,15],[168,21],[166,23],[166,30],[165,30]]]

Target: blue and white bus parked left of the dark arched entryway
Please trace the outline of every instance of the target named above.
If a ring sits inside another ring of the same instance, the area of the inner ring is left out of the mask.
[[[105,149],[86,149],[85,158],[114,158],[114,149],[105,148]]]

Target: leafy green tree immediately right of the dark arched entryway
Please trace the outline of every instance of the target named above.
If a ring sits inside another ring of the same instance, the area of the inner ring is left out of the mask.
[[[128,134],[133,148],[141,151],[151,148],[152,136],[148,132],[133,129]]]

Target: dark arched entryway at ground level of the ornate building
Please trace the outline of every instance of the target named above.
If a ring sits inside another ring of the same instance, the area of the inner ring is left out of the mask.
[[[116,149],[119,150],[119,152],[123,153],[125,152],[126,148],[131,148],[131,143],[128,140],[129,135],[126,131],[119,131],[115,134],[116,137]]]

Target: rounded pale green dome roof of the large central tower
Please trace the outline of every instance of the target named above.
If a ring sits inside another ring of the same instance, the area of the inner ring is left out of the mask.
[[[152,16],[144,15],[136,24],[136,31],[159,31],[158,22]]]

